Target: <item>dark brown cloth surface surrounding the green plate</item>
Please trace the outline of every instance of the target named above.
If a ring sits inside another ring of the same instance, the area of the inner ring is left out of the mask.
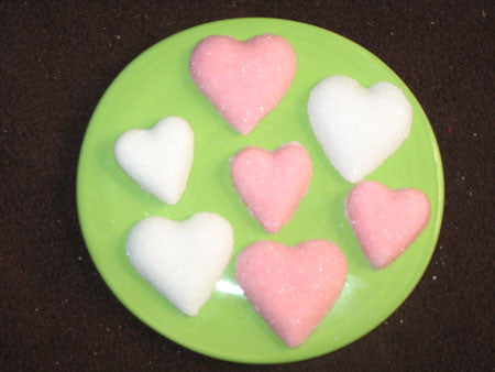
[[[427,112],[444,220],[421,282],[361,340],[274,370],[492,370],[493,1],[0,2],[0,370],[229,370],[168,341],[110,293],[78,226],[82,136],[119,72],[187,28],[311,23],[375,53]]]

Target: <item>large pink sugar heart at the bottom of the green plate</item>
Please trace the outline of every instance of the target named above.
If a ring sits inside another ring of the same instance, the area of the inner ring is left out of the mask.
[[[289,248],[260,241],[238,256],[235,278],[248,300],[290,348],[306,341],[345,283],[345,255],[326,240]]]

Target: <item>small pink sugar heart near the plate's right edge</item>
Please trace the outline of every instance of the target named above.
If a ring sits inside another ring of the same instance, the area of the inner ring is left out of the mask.
[[[428,223],[428,197],[414,188],[391,190],[369,180],[348,195],[345,214],[370,263],[382,269],[396,260]]]

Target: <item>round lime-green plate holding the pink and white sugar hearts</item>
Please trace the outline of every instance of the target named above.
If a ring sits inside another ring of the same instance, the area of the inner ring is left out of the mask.
[[[253,31],[255,30],[255,31]],[[188,73],[194,46],[205,36],[246,40],[274,33],[294,46],[298,67],[280,103],[251,134],[243,136],[196,89]],[[369,86],[387,80],[400,87],[414,107],[414,123],[402,147],[367,179],[392,188],[415,187],[431,203],[431,218],[414,244],[392,265],[374,271],[344,217],[352,184],[331,166],[307,116],[309,91],[321,79],[348,75]],[[195,132],[195,160],[183,198],[166,206],[142,192],[117,165],[113,143],[133,128],[151,128],[179,116]],[[294,218],[267,234],[234,190],[229,158],[240,149],[276,149],[299,141],[310,153],[314,177]],[[312,25],[275,19],[234,19],[183,31],[148,48],[117,77],[88,125],[78,165],[77,205],[88,250],[116,296],[163,336],[200,353],[238,362],[298,361],[339,349],[383,322],[414,289],[433,253],[443,211],[443,173],[435,134],[406,85],[376,56],[353,42]],[[142,280],[124,245],[134,223],[157,215],[184,220],[199,211],[217,212],[234,229],[233,258],[211,299],[197,317],[183,315]],[[345,253],[346,284],[333,309],[299,348],[287,348],[254,313],[234,281],[235,256],[262,239],[296,244],[328,239]]]

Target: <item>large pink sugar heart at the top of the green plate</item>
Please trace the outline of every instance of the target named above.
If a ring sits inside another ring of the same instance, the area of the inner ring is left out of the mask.
[[[248,134],[285,95],[296,73],[296,53],[272,34],[239,42],[208,36],[193,51],[193,81],[226,120]]]

